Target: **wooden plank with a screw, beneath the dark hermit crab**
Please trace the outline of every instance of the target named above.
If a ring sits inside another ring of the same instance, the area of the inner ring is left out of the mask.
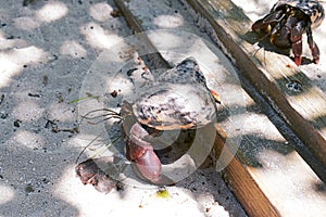
[[[211,24],[235,64],[326,167],[326,99],[288,58],[258,51],[252,22],[231,1],[188,0]],[[290,82],[299,90],[289,89]]]

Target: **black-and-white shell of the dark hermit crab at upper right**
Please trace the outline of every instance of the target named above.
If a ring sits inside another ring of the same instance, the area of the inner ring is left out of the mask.
[[[312,28],[318,27],[325,17],[324,8],[317,0],[279,0],[274,4],[272,11],[284,5],[298,9],[306,14],[310,17]]]

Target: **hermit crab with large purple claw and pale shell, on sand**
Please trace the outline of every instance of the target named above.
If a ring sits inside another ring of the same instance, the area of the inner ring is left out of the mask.
[[[154,138],[162,131],[192,130],[214,124],[216,102],[220,102],[218,94],[208,88],[193,58],[185,59],[162,73],[133,102],[124,101],[120,114],[113,115],[122,119],[125,155],[134,165],[135,174],[154,184],[171,184],[161,174],[162,163],[154,149]],[[76,173],[83,183],[97,186],[100,179],[109,187],[114,183],[90,159],[77,165]],[[98,174],[106,178],[99,178]]]

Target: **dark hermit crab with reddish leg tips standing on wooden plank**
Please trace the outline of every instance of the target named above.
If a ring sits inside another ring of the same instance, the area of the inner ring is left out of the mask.
[[[294,63],[302,61],[302,35],[306,33],[313,62],[319,62],[319,49],[312,29],[321,25],[325,12],[317,0],[279,0],[271,12],[252,25],[252,30],[269,31],[271,42],[279,48],[291,48]]]

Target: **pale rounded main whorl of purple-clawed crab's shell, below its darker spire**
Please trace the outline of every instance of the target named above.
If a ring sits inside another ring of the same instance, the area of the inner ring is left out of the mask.
[[[133,105],[137,120],[159,130],[193,129],[216,122],[216,105],[201,86],[160,84]]]

